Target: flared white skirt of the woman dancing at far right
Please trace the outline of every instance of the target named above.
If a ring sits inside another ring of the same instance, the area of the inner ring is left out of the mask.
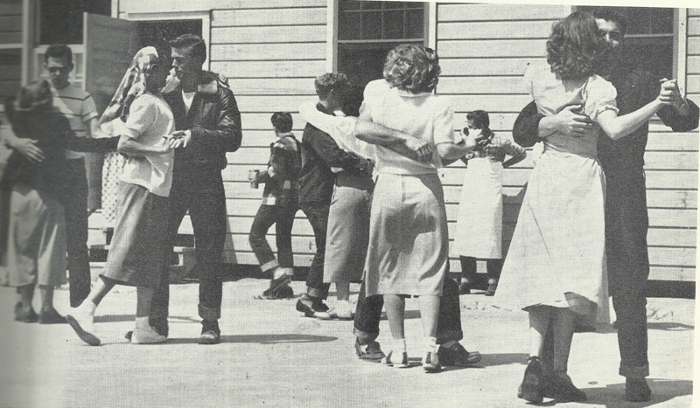
[[[595,159],[545,152],[533,169],[495,300],[609,322],[605,179]]]

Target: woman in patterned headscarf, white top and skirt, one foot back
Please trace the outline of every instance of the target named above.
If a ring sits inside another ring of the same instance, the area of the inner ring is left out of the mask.
[[[168,196],[172,185],[173,151],[168,142],[173,114],[160,97],[168,65],[154,47],[141,49],[131,62],[102,123],[120,136],[117,150],[126,155],[121,176],[117,223],[104,271],[88,298],[66,315],[81,340],[98,346],[95,308],[117,284],[137,287],[136,326],[132,343],[162,343],[148,321],[153,292],[165,251]]]

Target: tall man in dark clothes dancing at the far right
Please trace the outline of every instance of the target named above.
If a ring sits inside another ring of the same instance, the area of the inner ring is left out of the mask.
[[[620,44],[627,23],[618,13],[599,9],[594,13],[601,35],[610,45],[596,73],[610,81],[617,90],[619,115],[634,112],[659,95],[658,77],[635,69],[621,61]],[[668,84],[668,85],[666,85]],[[680,94],[678,86],[666,82],[662,98],[671,102],[658,117],[676,132],[693,130],[698,126],[698,107]],[[586,116],[568,107],[556,115],[544,117],[537,113],[534,102],[526,106],[513,127],[513,138],[529,147],[552,133],[577,136],[586,133],[593,124]],[[620,375],[627,378],[625,397],[628,401],[648,401],[651,389],[645,377],[649,375],[647,358],[646,297],[644,285],[649,277],[647,229],[649,226],[644,151],[649,124],[630,135],[612,140],[598,139],[598,159],[606,176],[605,236],[608,282],[617,315],[620,348]],[[545,338],[543,363],[551,355],[550,333]]]

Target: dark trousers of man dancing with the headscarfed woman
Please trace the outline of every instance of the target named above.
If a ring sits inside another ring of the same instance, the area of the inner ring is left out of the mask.
[[[203,320],[221,317],[221,257],[226,239],[226,196],[221,171],[176,171],[170,190],[170,217],[168,221],[167,253],[173,251],[177,230],[189,210],[194,228],[196,268],[199,272],[199,316]],[[169,269],[161,272],[161,279],[153,296],[151,320],[168,316],[170,295]]]

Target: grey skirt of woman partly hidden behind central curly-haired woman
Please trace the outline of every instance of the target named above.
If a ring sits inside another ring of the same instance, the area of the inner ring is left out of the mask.
[[[367,257],[372,183],[337,183],[328,214],[324,282],[359,282]],[[338,185],[341,184],[341,185]]]

